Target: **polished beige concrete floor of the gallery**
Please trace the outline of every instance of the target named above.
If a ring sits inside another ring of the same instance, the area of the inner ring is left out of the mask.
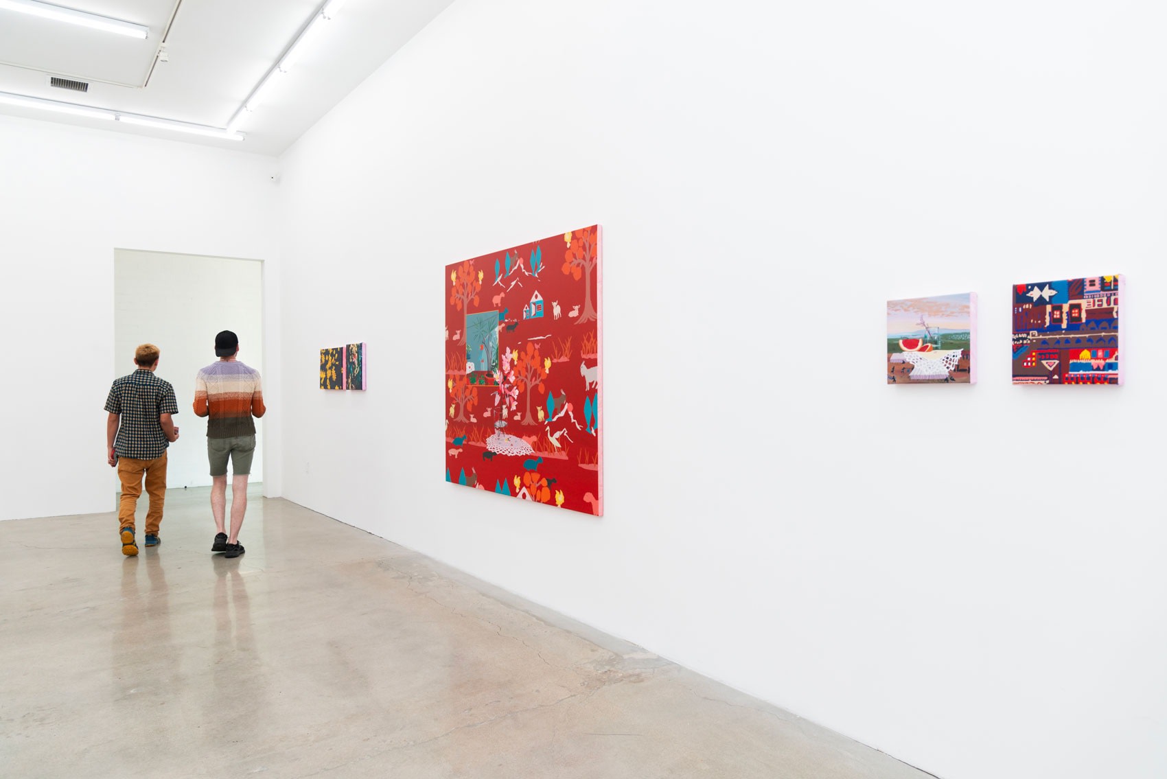
[[[285,500],[114,517],[0,522],[5,777],[930,776]]]

